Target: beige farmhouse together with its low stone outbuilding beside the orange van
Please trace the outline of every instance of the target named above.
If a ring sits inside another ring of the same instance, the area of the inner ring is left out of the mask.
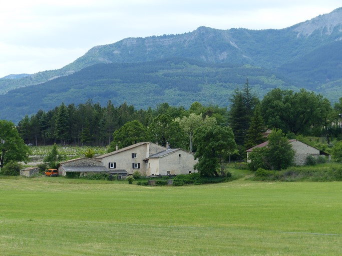
[[[95,157],[80,157],[61,162],[59,173],[107,172],[129,175],[138,170],[142,175],[177,175],[197,172],[194,154],[181,148],[160,146],[152,142],[139,142]]]

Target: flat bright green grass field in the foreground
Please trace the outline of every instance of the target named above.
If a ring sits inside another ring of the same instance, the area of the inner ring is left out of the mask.
[[[341,255],[341,182],[0,179],[0,255]]]

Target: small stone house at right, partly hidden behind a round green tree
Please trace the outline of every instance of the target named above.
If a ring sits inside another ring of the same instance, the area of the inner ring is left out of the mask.
[[[294,150],[294,163],[296,165],[304,165],[306,162],[306,158],[308,155],[311,155],[313,157],[318,157],[323,155],[324,157],[328,157],[328,160],[330,160],[330,155],[328,153],[325,153],[313,146],[310,146],[308,144],[305,144],[304,142],[301,142],[297,139],[289,139],[288,142],[292,145],[292,149]],[[246,150],[247,152],[247,161],[248,161],[248,154],[253,151],[254,148],[257,147],[263,147],[267,146],[268,141],[263,142],[261,144],[258,144],[256,146],[253,146]]]

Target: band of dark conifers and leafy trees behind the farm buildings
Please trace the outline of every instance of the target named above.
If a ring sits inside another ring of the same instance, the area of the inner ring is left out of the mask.
[[[189,109],[161,103],[155,109],[138,110],[127,103],[114,106],[109,100],[106,106],[101,106],[89,99],[79,105],[62,103],[47,112],[39,110],[26,115],[17,128],[25,143],[33,145],[112,143],[113,149],[113,143],[125,146],[143,139],[162,145],[170,142],[174,147],[195,151],[196,145],[192,144],[195,127],[204,125],[209,118],[210,125],[214,120],[215,125],[232,129],[240,154],[263,142],[266,129],[281,129],[290,138],[326,137],[327,143],[341,138],[338,113],[342,112],[342,98],[332,106],[322,95],[305,89],[294,92],[275,88],[260,100],[247,80],[241,88],[236,88],[230,102],[229,109],[203,106],[195,101]],[[138,130],[137,136],[132,134]]]

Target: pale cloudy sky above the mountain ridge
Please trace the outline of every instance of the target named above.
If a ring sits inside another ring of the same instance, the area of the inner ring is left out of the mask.
[[[7,0],[0,5],[0,77],[61,68],[126,37],[285,28],[340,0]]]

